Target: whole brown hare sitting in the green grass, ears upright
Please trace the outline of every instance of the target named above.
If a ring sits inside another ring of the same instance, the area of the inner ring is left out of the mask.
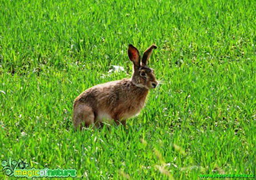
[[[100,127],[102,123],[126,125],[126,120],[141,111],[145,105],[149,89],[154,89],[158,82],[154,70],[147,66],[156,45],[145,50],[142,59],[133,45],[129,45],[129,59],[134,64],[131,79],[111,81],[93,86],[82,92],[73,104],[73,124],[75,130],[80,127]]]

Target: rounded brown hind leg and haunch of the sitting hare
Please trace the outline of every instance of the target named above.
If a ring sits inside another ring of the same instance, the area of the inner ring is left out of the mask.
[[[80,130],[83,127],[88,127],[94,123],[94,113],[90,106],[79,104],[73,110],[73,124],[75,130],[80,125]]]

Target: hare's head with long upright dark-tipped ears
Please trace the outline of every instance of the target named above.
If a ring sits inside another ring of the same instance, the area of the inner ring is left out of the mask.
[[[156,49],[156,45],[152,44],[143,53],[142,59],[140,59],[140,53],[133,45],[129,45],[128,55],[132,63],[134,64],[134,74],[132,75],[132,82],[140,87],[146,89],[156,88],[158,82],[156,80],[154,69],[147,66],[147,60],[149,60],[153,49]]]

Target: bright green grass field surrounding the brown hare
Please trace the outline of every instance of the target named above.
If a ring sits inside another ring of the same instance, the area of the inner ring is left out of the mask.
[[[256,176],[255,1],[1,1],[1,161],[88,179]],[[127,47],[163,81],[122,126],[76,132],[73,100],[130,78]],[[111,65],[125,71],[108,75]],[[8,176],[0,173],[1,179]]]

